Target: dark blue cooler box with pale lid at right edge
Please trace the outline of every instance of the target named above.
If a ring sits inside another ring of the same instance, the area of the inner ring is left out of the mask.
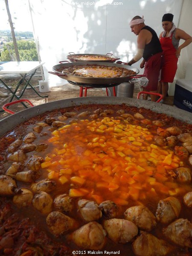
[[[175,84],[174,105],[192,113],[192,81],[177,79]]]

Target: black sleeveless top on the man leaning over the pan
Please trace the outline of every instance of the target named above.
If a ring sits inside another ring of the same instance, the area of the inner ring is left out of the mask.
[[[152,34],[151,42],[145,45],[145,49],[143,52],[143,58],[146,61],[152,55],[155,55],[158,52],[163,52],[163,50],[161,48],[157,33],[154,31],[154,29],[151,29],[151,27],[149,26],[144,26],[142,29],[147,29]]]

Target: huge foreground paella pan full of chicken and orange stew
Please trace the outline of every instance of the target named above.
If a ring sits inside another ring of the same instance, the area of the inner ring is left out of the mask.
[[[190,255],[189,124],[186,111],[118,97],[49,102],[0,121],[1,255]]]

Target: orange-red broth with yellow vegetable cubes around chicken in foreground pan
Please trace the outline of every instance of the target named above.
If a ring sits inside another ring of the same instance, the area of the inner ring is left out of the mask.
[[[101,109],[100,113],[94,113],[98,108]],[[119,110],[123,110],[124,114],[127,113],[129,116],[123,116]],[[86,111],[88,112],[84,115],[78,116]],[[76,114],[65,119],[66,112]],[[144,118],[136,118],[135,113],[142,114]],[[176,151],[178,153],[176,155],[175,147],[169,147],[166,144],[157,145],[154,136],[157,135],[158,128],[165,131],[166,128],[173,126],[179,127],[182,133],[191,133],[192,125],[165,114],[125,105],[89,105],[47,112],[24,122],[3,136],[1,139],[2,174],[5,174],[12,164],[6,158],[6,149],[12,142],[9,142],[8,139],[23,138],[27,133],[33,131],[37,123],[44,122],[47,117],[60,120],[64,124],[57,128],[48,125],[43,128],[41,133],[35,133],[37,137],[34,141],[35,144],[46,143],[48,145],[44,151],[35,152],[44,157],[44,162],[41,163],[41,177],[36,182],[45,178],[54,180],[55,189],[49,192],[53,199],[61,194],[67,194],[73,198],[75,208],[67,215],[74,218],[79,227],[87,223],[77,209],[80,198],[95,201],[97,204],[111,200],[119,209],[116,218],[123,218],[126,209],[137,205],[148,207],[155,215],[158,202],[173,196],[179,199],[182,206],[178,218],[186,218],[191,221],[191,209],[183,204],[183,195],[192,191],[191,180],[180,183],[175,172],[180,166],[191,170],[189,156],[182,155],[183,151]],[[73,121],[71,121],[72,119]],[[163,126],[154,125],[153,121],[157,120],[160,120]],[[5,141],[7,144],[3,144]],[[177,143],[178,147],[181,145],[182,143]],[[27,160],[32,154],[34,151],[27,153]],[[30,189],[31,183],[17,181],[17,186]],[[13,205],[12,197],[9,197],[8,201]],[[13,207],[15,212],[29,217],[53,240],[66,244],[71,251],[84,252],[85,250],[87,253],[86,249],[77,247],[71,241],[70,233],[73,230],[56,238],[47,227],[47,215],[41,214],[33,205],[20,209],[14,205]],[[52,211],[54,210],[52,207]],[[102,224],[104,220],[105,218],[102,217],[98,222]],[[165,239],[162,229],[166,226],[167,224],[157,223],[157,227],[149,233],[160,239]],[[131,242],[127,244],[114,243],[108,237],[106,240],[105,247],[99,250],[102,254],[105,251],[113,251],[119,252],[118,254],[122,256],[134,256]],[[171,241],[170,244],[174,250],[169,255],[190,253],[191,249],[181,248]],[[86,255],[88,254],[90,253]]]

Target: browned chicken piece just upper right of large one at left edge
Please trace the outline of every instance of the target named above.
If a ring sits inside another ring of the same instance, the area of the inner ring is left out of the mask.
[[[29,170],[23,172],[17,172],[14,176],[15,180],[32,183],[41,176],[41,172]]]

